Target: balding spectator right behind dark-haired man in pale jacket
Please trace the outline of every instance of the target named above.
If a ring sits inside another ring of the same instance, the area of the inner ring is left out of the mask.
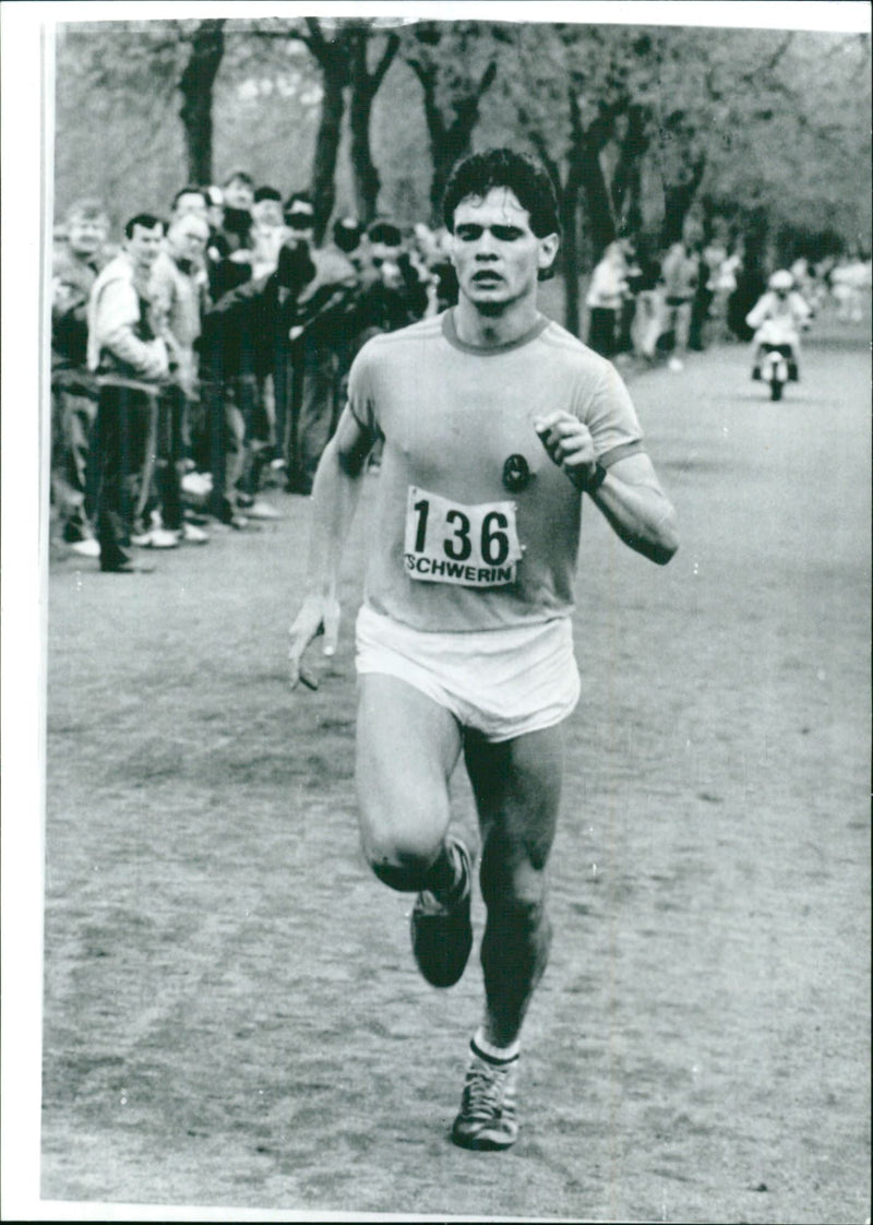
[[[168,342],[173,382],[160,397],[157,478],[163,527],[189,544],[209,539],[182,516],[181,481],[191,448],[189,410],[198,396],[197,358],[201,317],[207,298],[203,255],[209,239],[206,211],[174,217],[165,249],[152,268],[151,294],[158,330]]]

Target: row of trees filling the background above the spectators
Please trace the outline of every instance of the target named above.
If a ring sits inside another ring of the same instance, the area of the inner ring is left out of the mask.
[[[526,145],[560,190],[566,320],[577,333],[579,276],[616,234],[659,245],[693,216],[704,233],[719,218],[749,232],[766,261],[822,244],[869,247],[866,36],[358,17],[109,22],[61,27],[56,67],[59,212],[84,194],[162,211],[218,165],[285,191],[310,187],[321,230],[338,200],[367,221],[380,195],[400,221],[436,221],[459,157]]]

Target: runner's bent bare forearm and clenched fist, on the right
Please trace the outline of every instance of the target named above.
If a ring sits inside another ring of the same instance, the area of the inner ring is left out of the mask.
[[[580,492],[589,494],[624,544],[665,566],[678,549],[676,511],[645,452],[616,459],[590,490],[598,463],[588,426],[572,413],[557,410],[536,421],[536,432],[552,461]]]

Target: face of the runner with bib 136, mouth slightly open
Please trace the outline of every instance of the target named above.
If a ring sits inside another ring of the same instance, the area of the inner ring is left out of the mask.
[[[508,187],[468,196],[454,211],[452,258],[460,293],[484,314],[535,296],[536,279],[557,251],[557,235],[538,238],[530,214]]]

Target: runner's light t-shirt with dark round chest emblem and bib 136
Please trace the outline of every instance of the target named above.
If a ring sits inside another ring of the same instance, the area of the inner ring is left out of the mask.
[[[568,616],[582,496],[534,420],[562,408],[600,463],[642,450],[611,363],[540,316],[512,344],[458,339],[453,311],[370,341],[349,408],[384,437],[365,601],[424,631],[492,630]]]

